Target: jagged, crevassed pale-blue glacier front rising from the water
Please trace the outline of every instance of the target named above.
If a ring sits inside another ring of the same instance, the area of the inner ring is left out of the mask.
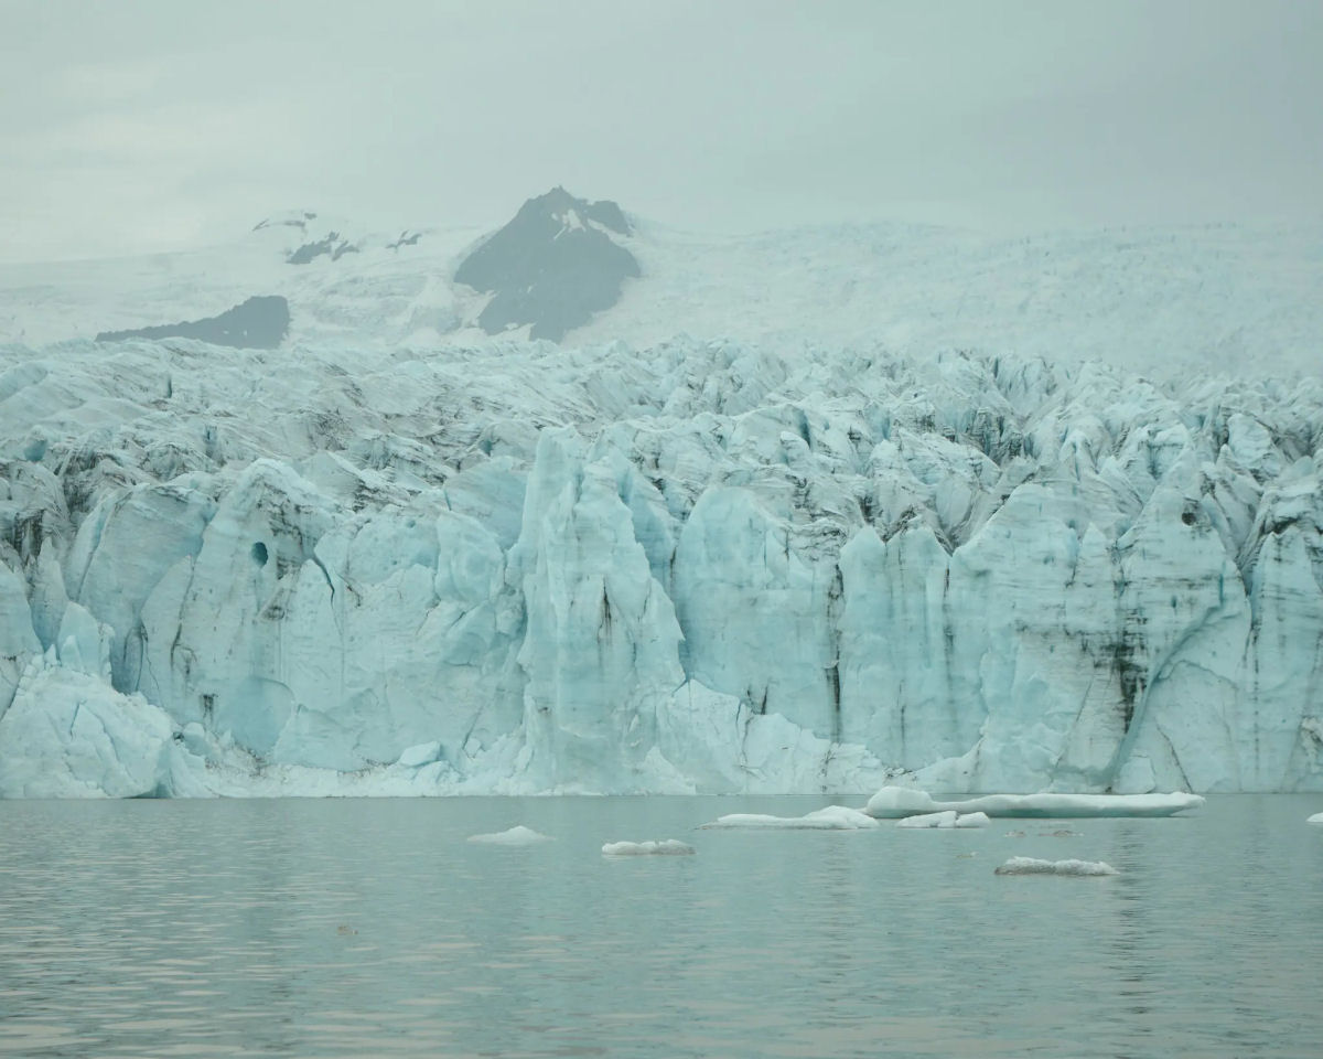
[[[0,349],[0,794],[1323,790],[1323,384]]]

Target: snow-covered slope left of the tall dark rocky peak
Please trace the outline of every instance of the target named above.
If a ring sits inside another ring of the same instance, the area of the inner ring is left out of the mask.
[[[451,277],[482,229],[364,233],[308,213],[262,218],[232,244],[189,253],[0,265],[0,339],[90,339],[214,316],[253,297],[288,300],[287,347],[435,342],[476,319],[482,297]]]

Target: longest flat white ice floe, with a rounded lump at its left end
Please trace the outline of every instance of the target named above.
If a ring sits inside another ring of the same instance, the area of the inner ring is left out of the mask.
[[[959,801],[935,801],[923,790],[884,786],[864,811],[880,819],[955,811],[988,817],[1171,817],[1204,804],[1199,794],[983,794]]]

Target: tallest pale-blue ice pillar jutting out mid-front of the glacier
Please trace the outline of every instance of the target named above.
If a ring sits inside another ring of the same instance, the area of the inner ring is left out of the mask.
[[[631,789],[684,683],[680,629],[628,500],[655,488],[609,438],[544,430],[511,552],[525,609],[528,768],[556,789]],[[646,504],[646,499],[644,499]]]

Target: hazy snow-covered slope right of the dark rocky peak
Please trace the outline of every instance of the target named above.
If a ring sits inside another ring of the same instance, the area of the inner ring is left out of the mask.
[[[712,238],[639,222],[631,249],[643,279],[572,342],[685,331],[786,352],[1102,359],[1163,379],[1209,363],[1323,373],[1323,222],[1020,238],[900,225]]]

